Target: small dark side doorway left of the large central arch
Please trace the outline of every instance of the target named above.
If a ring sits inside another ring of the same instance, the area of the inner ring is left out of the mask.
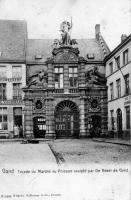
[[[44,138],[46,133],[46,124],[44,117],[33,118],[33,131],[35,138]]]

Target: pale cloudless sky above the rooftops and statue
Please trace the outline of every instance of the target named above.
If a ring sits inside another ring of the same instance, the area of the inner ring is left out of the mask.
[[[95,25],[113,50],[131,33],[131,0],[0,0],[0,19],[26,20],[29,38],[60,38],[72,17],[72,38],[94,38]]]

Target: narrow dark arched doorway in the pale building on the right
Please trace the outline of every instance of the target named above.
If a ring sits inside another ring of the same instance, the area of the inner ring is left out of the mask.
[[[118,138],[122,137],[122,111],[120,108],[117,109],[117,132]]]

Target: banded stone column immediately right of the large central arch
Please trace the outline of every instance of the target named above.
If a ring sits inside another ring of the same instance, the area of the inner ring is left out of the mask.
[[[86,137],[86,129],[85,129],[85,99],[84,97],[80,97],[80,138]]]

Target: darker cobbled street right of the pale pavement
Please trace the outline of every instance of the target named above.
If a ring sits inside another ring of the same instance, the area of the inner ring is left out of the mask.
[[[131,161],[131,147],[92,140],[63,139],[50,142],[60,163],[124,164]]]

